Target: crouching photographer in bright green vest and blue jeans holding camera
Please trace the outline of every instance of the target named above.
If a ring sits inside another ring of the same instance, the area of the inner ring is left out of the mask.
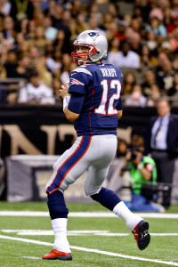
[[[121,175],[128,171],[131,177],[132,202],[130,209],[132,211],[165,211],[163,206],[152,202],[155,193],[151,190],[144,190],[145,186],[154,185],[157,181],[157,169],[155,162],[150,157],[143,156],[143,147],[136,146],[127,151],[125,164],[121,170]]]

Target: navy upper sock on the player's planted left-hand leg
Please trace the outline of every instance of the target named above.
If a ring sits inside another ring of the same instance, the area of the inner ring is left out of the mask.
[[[61,191],[55,190],[52,194],[48,194],[47,205],[52,220],[57,218],[68,218],[69,210]]]

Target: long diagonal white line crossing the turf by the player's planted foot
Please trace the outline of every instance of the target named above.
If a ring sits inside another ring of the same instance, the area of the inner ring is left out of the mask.
[[[4,236],[4,235],[0,235],[0,239],[10,239],[10,240],[14,240],[14,241],[33,243],[33,244],[37,244],[37,245],[53,246],[52,243],[48,243],[48,242],[42,242],[42,241],[37,241],[37,240],[33,240],[33,239],[12,238],[12,237],[8,237],[8,236]],[[160,260],[156,260],[156,259],[147,259],[147,258],[142,258],[142,257],[130,256],[130,255],[122,255],[122,254],[112,253],[112,252],[108,252],[108,251],[102,251],[99,249],[91,249],[91,248],[86,248],[86,247],[75,247],[75,246],[70,246],[70,247],[71,247],[71,249],[76,249],[76,250],[86,251],[86,252],[93,252],[93,253],[97,253],[97,254],[101,254],[101,255],[110,255],[110,256],[130,259],[130,260],[142,261],[142,262],[162,263],[162,264],[171,265],[171,266],[178,266],[178,263],[160,261]]]

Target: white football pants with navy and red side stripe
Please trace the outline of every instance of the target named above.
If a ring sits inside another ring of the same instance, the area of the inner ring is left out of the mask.
[[[106,178],[109,164],[115,157],[117,136],[85,135],[77,137],[73,146],[66,150],[53,165],[53,175],[45,186],[46,192],[67,190],[87,170],[85,178],[85,195],[92,196],[101,190]]]

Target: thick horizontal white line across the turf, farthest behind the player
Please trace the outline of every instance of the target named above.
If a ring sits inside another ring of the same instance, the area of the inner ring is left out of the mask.
[[[134,213],[137,214],[137,213]],[[138,213],[144,218],[157,218],[157,219],[178,219],[178,214],[158,214],[158,213]],[[40,211],[0,211],[0,216],[24,216],[24,217],[48,217],[48,212]],[[82,217],[82,218],[116,218],[117,215],[113,213],[103,212],[78,212],[69,213],[69,217]]]

